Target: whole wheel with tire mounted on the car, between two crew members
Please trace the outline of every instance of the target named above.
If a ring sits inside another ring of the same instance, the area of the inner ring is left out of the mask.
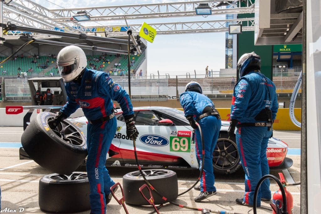
[[[220,133],[213,152],[214,173],[232,174],[241,168],[241,162],[235,137]]]

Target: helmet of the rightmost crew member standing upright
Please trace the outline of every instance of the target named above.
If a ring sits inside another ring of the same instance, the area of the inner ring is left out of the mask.
[[[261,57],[256,55],[256,53],[243,54],[238,61],[237,71],[239,72],[239,77],[245,76],[247,73],[260,70],[261,69]]]

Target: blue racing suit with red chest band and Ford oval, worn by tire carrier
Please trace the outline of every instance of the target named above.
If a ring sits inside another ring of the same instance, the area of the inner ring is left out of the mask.
[[[79,81],[65,83],[68,102],[60,110],[70,116],[81,107],[88,120],[108,117],[114,112],[113,102],[119,103],[123,115],[132,115],[133,106],[128,94],[109,77],[108,73],[85,69]],[[106,156],[116,133],[116,118],[87,125],[87,174],[90,183],[91,213],[105,214],[105,195],[115,182],[110,178],[105,167]]]

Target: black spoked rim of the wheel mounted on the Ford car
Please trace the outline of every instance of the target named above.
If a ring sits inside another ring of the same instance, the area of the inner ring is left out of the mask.
[[[219,170],[230,170],[239,164],[237,145],[230,139],[219,139],[213,152],[213,167]]]

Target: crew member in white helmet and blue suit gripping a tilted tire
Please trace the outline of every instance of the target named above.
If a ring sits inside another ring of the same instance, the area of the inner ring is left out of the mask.
[[[106,155],[117,128],[112,100],[117,101],[123,111],[126,133],[131,140],[139,134],[134,125],[133,106],[126,91],[108,73],[86,68],[86,55],[80,47],[71,45],[61,49],[57,65],[65,82],[68,102],[48,123],[57,125],[76,109],[82,108],[88,119],[86,168],[91,189],[91,213],[105,214],[106,204],[112,197],[110,187],[115,184],[105,167]]]

